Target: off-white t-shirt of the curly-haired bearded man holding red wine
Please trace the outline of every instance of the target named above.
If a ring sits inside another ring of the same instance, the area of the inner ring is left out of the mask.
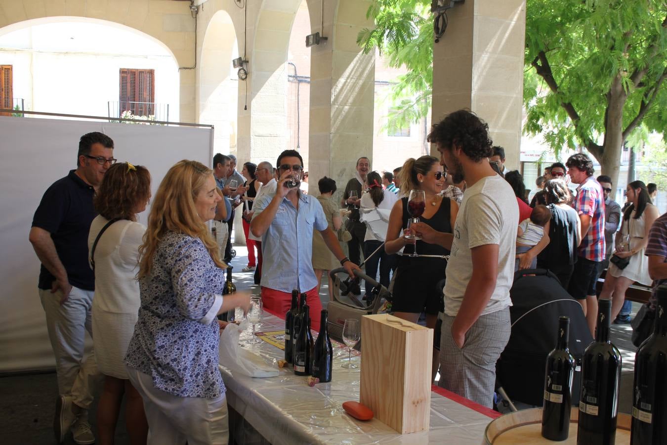
[[[472,278],[471,249],[498,244],[498,279],[481,315],[512,306],[516,228],[519,208],[510,184],[500,175],[480,179],[466,189],[454,225],[452,254],[447,265],[445,314],[456,316]]]

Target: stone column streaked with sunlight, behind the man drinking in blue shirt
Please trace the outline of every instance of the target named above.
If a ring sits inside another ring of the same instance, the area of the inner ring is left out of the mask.
[[[368,0],[325,0],[324,44],[311,47],[309,177],[336,180],[340,200],[358,157],[373,156],[375,56],[356,43]],[[312,32],[320,32],[319,5],[309,5]],[[334,22],[333,18],[336,17]],[[311,185],[313,187],[313,185]]]

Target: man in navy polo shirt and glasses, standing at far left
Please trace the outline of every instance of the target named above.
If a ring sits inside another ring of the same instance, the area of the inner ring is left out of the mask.
[[[41,262],[37,287],[55,355],[60,396],[54,430],[59,443],[70,428],[77,444],[95,442],[87,410],[99,373],[95,356],[83,360],[85,331],[92,334],[95,291],[95,276],[88,264],[88,232],[97,214],[93,194],[115,161],[110,137],[98,132],[81,136],[77,169],[47,189],[30,230],[30,242]]]

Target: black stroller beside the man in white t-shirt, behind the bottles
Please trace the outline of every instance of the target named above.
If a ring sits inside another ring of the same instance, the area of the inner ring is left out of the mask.
[[[556,346],[558,318],[568,316],[568,347],[577,363],[572,404],[578,404],[582,355],[593,341],[581,306],[564,290],[558,278],[544,269],[516,272],[510,297],[513,304],[510,307],[512,334],[496,363],[498,392],[516,402],[542,406],[546,356]],[[514,407],[512,400],[508,403]]]

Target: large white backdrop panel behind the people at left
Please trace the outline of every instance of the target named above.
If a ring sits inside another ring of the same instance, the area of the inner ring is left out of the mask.
[[[90,131],[113,139],[119,162],[147,167],[153,194],[177,161],[213,159],[211,128],[0,117],[0,372],[55,366],[28,234],[44,191],[76,168],[79,137]],[[139,215],[143,224],[149,209]]]

